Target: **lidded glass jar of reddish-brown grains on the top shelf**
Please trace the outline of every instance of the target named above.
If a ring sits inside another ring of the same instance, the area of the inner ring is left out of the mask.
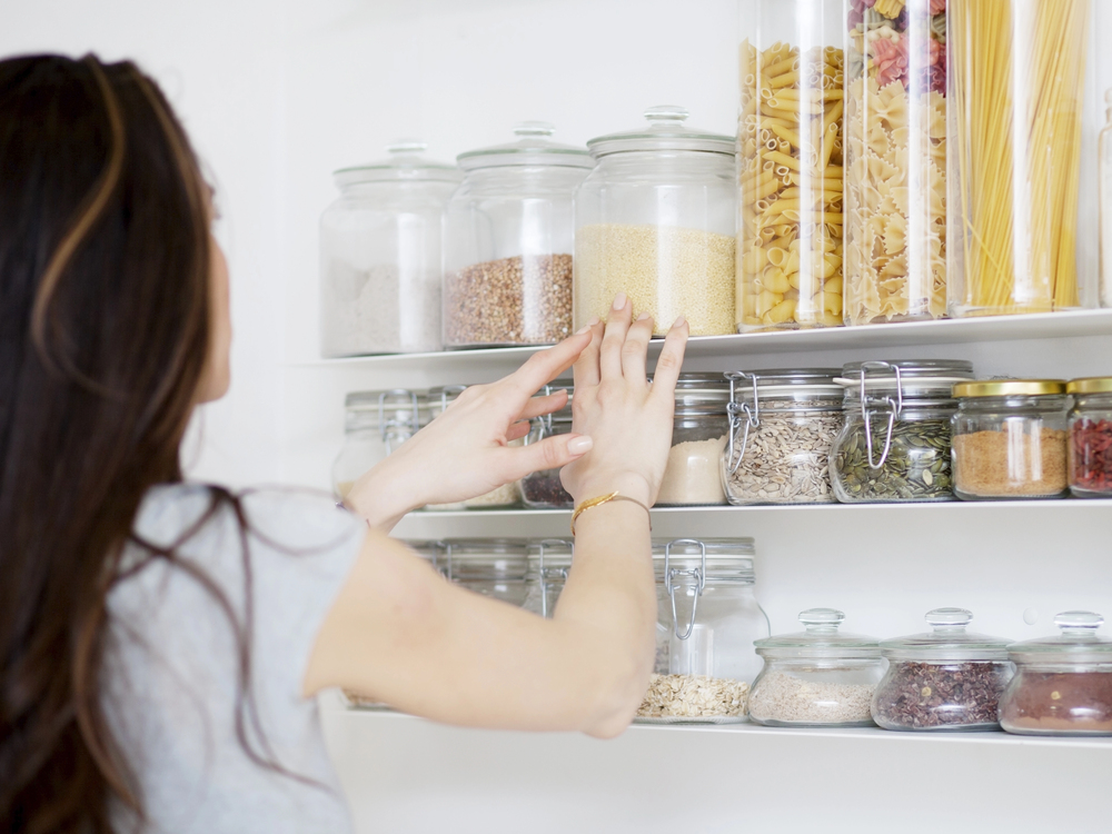
[[[572,334],[575,190],[594,167],[552,125],[460,153],[466,179],[445,221],[444,344],[545,345]]]

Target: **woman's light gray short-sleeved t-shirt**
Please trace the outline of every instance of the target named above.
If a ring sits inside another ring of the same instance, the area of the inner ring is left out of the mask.
[[[245,753],[236,727],[240,662],[228,616],[197,578],[156,558],[109,594],[102,695],[138,781],[145,831],[346,834],[351,821],[317,704],[301,697],[301,684],[366,525],[319,494],[248,493],[241,498],[249,530],[245,569],[241,526],[229,505],[197,528],[211,495],[200,485],[156,487],[135,530],[157,546],[175,546],[180,560],[224,593],[240,624],[249,599],[258,721],[248,714],[242,732],[259,752],[265,739],[274,759],[302,781]],[[125,569],[139,556],[140,548],[129,546]],[[136,830],[122,807],[113,822],[119,832]]]

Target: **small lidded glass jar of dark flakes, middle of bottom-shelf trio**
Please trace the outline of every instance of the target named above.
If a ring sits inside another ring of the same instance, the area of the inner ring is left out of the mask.
[[[873,695],[873,721],[885,729],[995,729],[1012,679],[1011,641],[970,634],[964,608],[926,613],[932,631],[881,643],[888,671]]]

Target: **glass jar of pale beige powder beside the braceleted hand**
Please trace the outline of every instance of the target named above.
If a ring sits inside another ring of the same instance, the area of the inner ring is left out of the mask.
[[[721,374],[681,374],[672,449],[657,506],[725,504],[722,455],[729,436],[729,384]]]

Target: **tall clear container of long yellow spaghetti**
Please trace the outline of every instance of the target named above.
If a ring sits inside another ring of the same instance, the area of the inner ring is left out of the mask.
[[[1095,302],[1094,0],[950,0],[950,311]]]

